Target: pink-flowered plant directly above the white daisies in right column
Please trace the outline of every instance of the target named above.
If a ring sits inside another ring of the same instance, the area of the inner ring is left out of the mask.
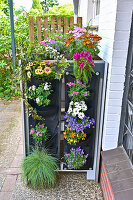
[[[80,102],[81,100],[85,100],[88,96],[90,96],[90,92],[87,90],[89,86],[82,84],[82,82],[80,82],[78,79],[76,79],[74,83],[69,82],[66,83],[66,85],[70,87],[68,95],[74,102]]]

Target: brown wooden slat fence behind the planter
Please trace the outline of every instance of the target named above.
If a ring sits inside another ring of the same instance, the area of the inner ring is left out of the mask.
[[[82,17],[78,17],[77,24],[82,26]],[[33,42],[35,40],[35,25],[37,25],[37,40],[40,42],[42,40],[42,26],[44,29],[43,38],[47,39],[48,31],[54,33],[57,31],[60,33],[63,31],[63,34],[67,33],[67,28],[74,25],[74,17],[51,17],[51,21],[48,21],[48,17],[44,17],[44,22],[42,23],[41,17],[36,17],[36,23],[34,23],[34,17],[29,17],[29,40]]]

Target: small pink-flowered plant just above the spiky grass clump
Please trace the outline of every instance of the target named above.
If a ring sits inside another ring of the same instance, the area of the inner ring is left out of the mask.
[[[38,142],[41,143],[43,141],[46,141],[49,138],[49,133],[47,131],[47,127],[45,126],[45,123],[40,124],[38,123],[35,128],[32,128],[30,130],[30,135]]]

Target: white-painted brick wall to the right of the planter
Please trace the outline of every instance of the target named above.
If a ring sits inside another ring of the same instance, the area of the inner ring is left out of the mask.
[[[99,55],[109,63],[103,150],[117,147],[132,11],[132,0],[101,0]]]

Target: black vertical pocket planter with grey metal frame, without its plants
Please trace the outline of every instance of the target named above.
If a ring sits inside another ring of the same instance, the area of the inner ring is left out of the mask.
[[[65,80],[65,111],[68,110],[70,98],[68,97],[67,82],[74,81],[74,77],[71,75],[73,69],[73,62],[70,61],[70,66],[67,69],[64,80]],[[100,160],[100,148],[101,148],[101,136],[103,127],[103,115],[104,115],[104,100],[106,93],[106,79],[107,79],[107,64],[103,61],[95,61],[94,67],[95,74],[88,83],[90,96],[87,98],[86,104],[88,110],[86,115],[95,119],[95,125],[87,129],[86,140],[81,141],[76,146],[81,146],[88,154],[86,164],[79,170],[69,170],[63,165],[61,160],[59,171],[71,171],[71,172],[87,172],[87,179],[98,180],[99,160]],[[60,148],[61,138],[61,87],[62,81],[52,80],[50,81],[54,92],[50,95],[51,103],[46,107],[37,106],[34,102],[30,102],[33,107],[36,108],[37,113],[45,118],[45,123],[48,131],[51,134],[50,139],[42,144],[42,147],[49,149],[49,152],[57,157],[61,158],[60,154],[69,152],[75,145],[70,145],[64,139],[64,147]],[[32,78],[31,82],[27,82],[27,86],[31,85],[38,86],[43,83],[42,80]],[[30,129],[42,120],[35,120],[32,116],[28,117],[28,110],[24,102],[22,102],[22,113],[23,113],[23,135],[24,135],[24,149],[25,155],[29,155],[29,151],[35,146],[35,141],[30,136]],[[63,151],[63,152],[62,152]]]

